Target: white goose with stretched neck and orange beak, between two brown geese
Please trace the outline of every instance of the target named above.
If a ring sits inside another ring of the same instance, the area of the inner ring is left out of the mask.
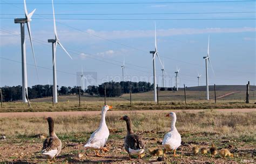
[[[109,150],[104,147],[104,145],[106,144],[107,138],[109,138],[109,128],[107,128],[105,117],[106,117],[106,112],[111,108],[112,106],[108,106],[108,105],[103,106],[102,119],[100,121],[99,128],[91,134],[90,139],[84,145],[85,148],[95,149],[96,156],[102,156],[102,155],[99,155],[98,150],[109,152]]]

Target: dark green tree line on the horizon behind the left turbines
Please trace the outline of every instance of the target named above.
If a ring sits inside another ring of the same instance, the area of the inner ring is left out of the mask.
[[[88,86],[86,90],[80,90],[80,94],[87,93],[91,96],[104,97],[106,88],[106,97],[119,97],[124,93],[139,93],[153,91],[153,85],[144,81],[131,82],[106,82],[98,86]],[[22,86],[4,86],[2,87],[3,101],[22,100]],[[79,86],[58,87],[59,95],[79,94]],[[44,98],[52,96],[52,85],[34,85],[28,87],[29,99]]]

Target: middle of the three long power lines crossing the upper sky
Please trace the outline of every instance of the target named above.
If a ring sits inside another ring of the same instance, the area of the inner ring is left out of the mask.
[[[256,11],[234,12],[172,12],[172,13],[55,13],[55,15],[196,15],[196,14],[221,14],[221,13],[255,13]],[[0,13],[0,15],[24,15],[24,13]],[[37,13],[37,15],[52,16],[52,13]]]

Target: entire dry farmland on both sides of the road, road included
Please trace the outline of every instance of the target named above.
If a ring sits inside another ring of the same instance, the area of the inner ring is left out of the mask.
[[[59,103],[54,106],[52,98],[33,99],[31,107],[18,101],[4,103],[0,109],[3,115],[1,117],[0,113],[0,129],[6,140],[0,140],[0,162],[46,162],[41,158],[40,151],[43,138],[48,135],[48,123],[44,120],[48,116],[55,120],[56,134],[63,142],[62,152],[56,162],[129,162],[123,147],[126,126],[124,121],[119,120],[124,114],[131,118],[134,131],[143,136],[146,154],[140,162],[154,162],[157,157],[150,156],[147,148],[161,147],[161,139],[170,130],[171,120],[164,117],[170,111],[177,113],[176,127],[181,134],[182,143],[177,151],[180,156],[173,158],[172,153],[168,153],[166,163],[255,162],[255,98],[252,95],[250,104],[246,104],[245,92],[228,93],[231,91],[219,91],[217,104],[214,99],[203,100],[203,91],[187,91],[187,104],[183,91],[160,91],[158,105],[151,101],[152,92],[132,94],[132,105],[130,94],[106,98],[106,103],[113,108],[106,115],[106,123],[110,129],[106,147],[110,152],[103,153],[103,158],[95,157],[94,152],[84,149],[83,145],[99,125],[104,98],[83,95],[81,106],[77,95],[59,96]],[[210,98],[213,95],[210,92]],[[234,158],[222,159],[220,155],[212,158],[209,153],[206,156],[192,154],[193,145],[209,149],[211,143],[218,149],[230,149]],[[135,156],[132,161],[137,161]]]

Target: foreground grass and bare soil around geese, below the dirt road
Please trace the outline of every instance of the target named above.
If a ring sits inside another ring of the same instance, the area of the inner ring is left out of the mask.
[[[160,147],[158,141],[170,130],[170,118],[164,117],[166,112],[159,114],[128,114],[132,127],[137,134],[143,136],[146,148]],[[56,133],[63,142],[63,150],[57,162],[129,162],[124,151],[123,138],[126,134],[125,122],[120,121],[122,114],[107,115],[106,123],[110,129],[106,147],[110,152],[104,153],[104,158],[96,158],[83,145],[90,134],[98,127],[100,115],[79,117],[58,117],[55,119]],[[199,113],[177,113],[176,127],[181,134],[182,144],[178,149],[178,158],[172,153],[167,154],[166,162],[233,162],[253,161],[256,144],[256,112],[220,113],[214,110]],[[97,122],[97,123],[96,123]],[[40,150],[43,139],[38,135],[48,135],[48,124],[43,118],[2,118],[1,132],[6,140],[0,140],[1,162],[46,162],[41,159]],[[215,158],[210,154],[193,155],[193,144],[200,147],[210,147],[214,144],[220,148],[228,148],[234,158]],[[83,155],[79,158],[79,154]],[[136,157],[133,161],[136,161]],[[146,155],[141,162],[153,162],[157,157]],[[255,162],[255,161],[254,161]]]

